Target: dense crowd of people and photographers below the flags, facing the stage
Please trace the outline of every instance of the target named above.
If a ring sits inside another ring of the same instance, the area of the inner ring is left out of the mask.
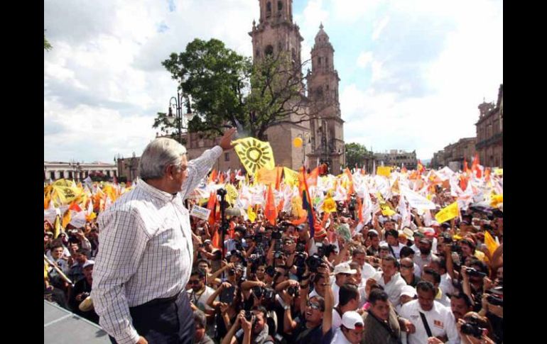
[[[416,209],[411,226],[380,210],[362,223],[355,197],[314,228],[285,212],[275,224],[262,209],[254,221],[229,216],[224,252],[213,245],[222,219],[191,216],[195,343],[503,342],[502,211],[470,206],[426,227]],[[400,199],[386,202],[399,209]],[[98,323],[89,296],[100,228],[53,233],[44,221],[45,298]],[[499,242],[493,252],[485,235]]]

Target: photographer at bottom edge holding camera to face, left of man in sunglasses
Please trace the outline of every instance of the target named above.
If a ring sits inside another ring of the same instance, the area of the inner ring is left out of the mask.
[[[266,314],[266,309],[261,306],[251,311],[240,311],[222,344],[274,344],[268,334]]]

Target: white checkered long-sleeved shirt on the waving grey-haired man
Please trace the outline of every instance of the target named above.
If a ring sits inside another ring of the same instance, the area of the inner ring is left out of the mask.
[[[129,307],[175,296],[188,283],[193,245],[183,200],[221,154],[215,146],[188,162],[188,179],[175,196],[139,180],[99,216],[91,296],[100,325],[118,343],[139,340]]]

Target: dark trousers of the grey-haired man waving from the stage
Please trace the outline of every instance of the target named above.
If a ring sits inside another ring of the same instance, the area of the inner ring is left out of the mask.
[[[133,326],[150,344],[194,343],[194,312],[183,290],[176,299],[156,299],[130,307]],[[116,340],[110,337],[113,344]]]

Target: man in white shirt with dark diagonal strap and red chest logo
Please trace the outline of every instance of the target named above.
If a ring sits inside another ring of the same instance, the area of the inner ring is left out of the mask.
[[[410,320],[416,331],[408,333],[408,344],[428,343],[428,338],[437,337],[450,344],[460,343],[454,315],[449,308],[435,301],[435,288],[430,282],[419,282],[416,286],[418,299],[401,308],[401,317]],[[427,326],[425,325],[425,323]]]

